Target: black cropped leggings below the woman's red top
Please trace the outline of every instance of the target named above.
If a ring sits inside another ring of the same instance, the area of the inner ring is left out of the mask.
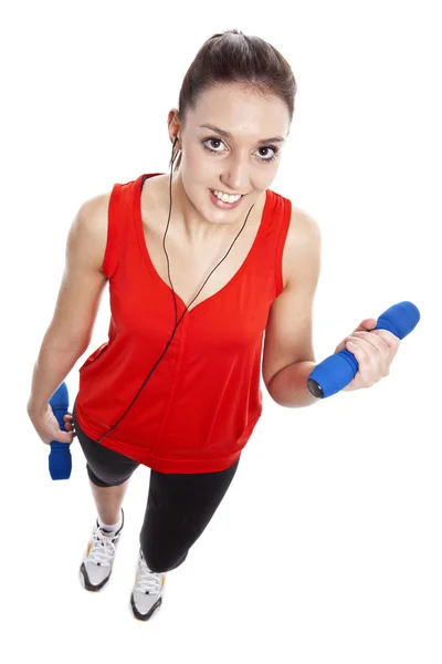
[[[76,419],[75,404],[72,416],[91,481],[98,487],[124,484],[139,464],[88,438]],[[152,572],[168,572],[185,562],[190,547],[201,536],[229,489],[239,463],[240,459],[227,470],[217,473],[170,474],[150,469],[139,543]]]

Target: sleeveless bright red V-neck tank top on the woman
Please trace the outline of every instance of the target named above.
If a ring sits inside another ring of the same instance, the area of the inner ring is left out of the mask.
[[[75,414],[99,440],[123,416],[175,328],[173,292],[149,258],[141,175],[113,187],[103,272],[108,341],[80,367]],[[283,290],[290,199],[266,190],[254,243],[233,278],[186,312],[162,360],[122,422],[101,443],[160,473],[213,473],[239,458],[262,412],[263,336]],[[176,294],[177,322],[186,310]]]

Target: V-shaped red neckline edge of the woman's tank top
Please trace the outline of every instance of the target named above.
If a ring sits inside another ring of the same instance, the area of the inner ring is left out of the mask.
[[[175,289],[172,290],[171,287],[168,283],[166,283],[166,281],[162,279],[162,277],[160,277],[159,273],[157,272],[157,269],[156,269],[156,267],[154,266],[154,263],[151,261],[149,249],[148,249],[147,242],[146,242],[146,237],[145,237],[145,234],[144,234],[143,215],[141,215],[141,191],[143,191],[143,184],[144,184],[145,179],[150,178],[150,177],[155,177],[157,175],[166,175],[166,174],[164,174],[164,173],[145,174],[145,175],[139,176],[139,178],[135,183],[135,186],[134,186],[134,197],[135,197],[135,199],[134,199],[134,209],[135,209],[135,217],[136,217],[136,219],[135,219],[136,220],[135,226],[136,226],[136,229],[137,229],[137,235],[138,235],[138,240],[139,240],[139,243],[140,243],[141,253],[143,253],[143,257],[145,259],[145,262],[146,262],[149,271],[154,274],[154,277],[157,279],[157,281],[160,284],[162,284],[162,287],[165,289],[167,289],[170,293],[171,292],[175,293],[176,299],[180,303],[181,308],[182,309],[187,309],[187,305],[186,305],[185,301],[180,298],[180,295],[177,293],[177,291]],[[188,310],[188,314],[193,313],[193,311],[196,311],[199,307],[201,307],[202,304],[206,304],[210,300],[213,300],[213,298],[215,298],[217,295],[221,295],[243,273],[243,271],[245,270],[245,268],[248,267],[249,262],[252,259],[252,256],[253,256],[253,253],[254,253],[254,251],[256,249],[256,246],[259,245],[259,242],[261,240],[261,236],[264,232],[264,226],[265,226],[265,219],[266,219],[266,214],[267,214],[267,209],[269,209],[269,204],[270,204],[270,191],[269,191],[269,189],[266,189],[266,191],[265,191],[265,203],[264,203],[263,211],[262,211],[262,215],[261,215],[261,221],[260,221],[260,226],[259,226],[257,232],[256,232],[255,238],[253,240],[253,243],[252,243],[252,246],[251,246],[251,248],[249,250],[249,253],[246,255],[245,259],[241,263],[240,268],[236,270],[236,272],[233,274],[233,277],[220,290],[218,290],[212,295],[209,295],[204,300],[201,300],[201,302],[198,302],[198,304],[196,304],[190,310]]]

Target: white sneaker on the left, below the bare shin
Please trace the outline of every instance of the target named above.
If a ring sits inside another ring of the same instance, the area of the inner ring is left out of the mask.
[[[123,508],[122,520],[122,526],[116,532],[108,532],[98,525],[98,519],[96,519],[80,567],[80,580],[86,590],[101,590],[109,580],[116,548],[124,526]]]

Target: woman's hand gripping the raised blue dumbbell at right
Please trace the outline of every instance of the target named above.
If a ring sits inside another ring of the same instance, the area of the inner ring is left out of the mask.
[[[390,373],[390,364],[399,350],[400,339],[388,330],[373,330],[376,319],[364,320],[336,346],[336,353],[347,349],[358,362],[358,371],[343,392],[372,387]]]

